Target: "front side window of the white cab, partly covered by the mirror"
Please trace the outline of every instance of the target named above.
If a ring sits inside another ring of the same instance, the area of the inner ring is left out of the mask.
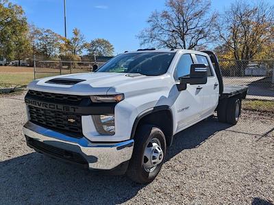
[[[190,66],[192,64],[193,60],[190,54],[182,55],[174,73],[175,81],[179,80],[179,77],[188,76],[190,74]]]

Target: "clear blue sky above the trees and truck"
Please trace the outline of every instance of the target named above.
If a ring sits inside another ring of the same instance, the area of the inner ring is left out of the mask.
[[[21,5],[29,23],[64,36],[64,0],[10,0]],[[222,12],[234,0],[212,0],[212,10]],[[248,1],[248,0],[246,0]],[[273,0],[264,0],[269,3]],[[86,41],[105,38],[114,54],[140,48],[136,35],[147,27],[154,10],[163,10],[165,0],[66,0],[67,37],[77,27]]]

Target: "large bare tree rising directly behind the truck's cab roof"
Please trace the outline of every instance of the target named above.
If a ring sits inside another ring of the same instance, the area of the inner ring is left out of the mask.
[[[216,14],[208,0],[167,0],[166,9],[151,14],[137,36],[141,45],[158,48],[195,49],[212,40]]]

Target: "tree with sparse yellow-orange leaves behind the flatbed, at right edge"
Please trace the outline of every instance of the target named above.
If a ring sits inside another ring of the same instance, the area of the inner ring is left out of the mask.
[[[263,1],[236,1],[220,16],[216,28],[221,46],[235,59],[252,59],[266,44],[273,44],[274,7]]]

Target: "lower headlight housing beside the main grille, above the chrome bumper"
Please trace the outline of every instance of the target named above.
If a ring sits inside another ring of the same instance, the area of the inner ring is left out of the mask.
[[[114,114],[110,115],[92,115],[97,132],[101,135],[114,135],[115,123]]]

